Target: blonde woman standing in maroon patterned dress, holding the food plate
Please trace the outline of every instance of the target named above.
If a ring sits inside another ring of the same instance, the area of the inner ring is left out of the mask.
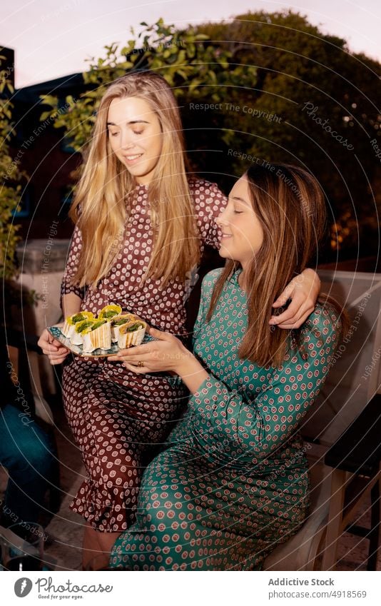
[[[181,119],[166,81],[149,72],[114,81],[71,209],[64,316],[118,303],[182,338],[189,276],[205,244],[218,248],[214,218],[225,204],[217,186],[186,173]],[[271,320],[283,328],[313,310],[320,284],[312,270],[303,277],[275,303],[293,299]],[[107,358],[67,358],[47,331],[39,344],[52,364],[64,362],[64,407],[86,465],[71,503],[86,520],[86,565],[135,520],[143,468],[178,420],[186,385],[166,374],[133,374]]]

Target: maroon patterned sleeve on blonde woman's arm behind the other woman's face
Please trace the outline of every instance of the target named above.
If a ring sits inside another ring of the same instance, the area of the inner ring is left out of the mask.
[[[215,219],[228,203],[226,196],[215,183],[198,181],[193,188],[198,229],[204,244],[220,248],[219,229]]]

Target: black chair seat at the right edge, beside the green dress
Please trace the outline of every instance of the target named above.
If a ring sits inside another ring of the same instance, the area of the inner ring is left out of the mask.
[[[339,413],[340,414],[340,413]],[[381,395],[375,395],[325,455],[325,465],[372,477],[381,460]]]

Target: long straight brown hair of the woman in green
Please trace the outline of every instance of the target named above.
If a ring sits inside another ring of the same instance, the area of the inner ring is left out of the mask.
[[[290,331],[270,327],[272,304],[295,276],[316,262],[317,245],[325,231],[325,200],[316,179],[303,168],[288,164],[250,166],[250,201],[263,229],[263,243],[253,255],[246,274],[248,284],[248,330],[240,345],[241,358],[260,366],[279,366],[289,347]],[[209,321],[225,281],[235,269],[228,260],[215,284],[210,301]],[[298,279],[303,279],[299,276]],[[332,298],[321,296],[339,314],[342,309]],[[291,331],[293,344],[299,331]]]

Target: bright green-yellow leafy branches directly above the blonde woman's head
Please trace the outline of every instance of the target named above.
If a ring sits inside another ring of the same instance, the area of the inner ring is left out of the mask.
[[[243,86],[251,86],[255,81],[255,69],[232,66],[230,51],[209,44],[205,41],[207,36],[195,33],[193,28],[178,31],[173,25],[164,24],[163,19],[151,26],[143,22],[141,26],[143,29],[138,35],[131,29],[133,38],[126,46],[105,46],[103,59],[89,60],[89,69],[83,74],[88,91],[77,101],[68,96],[67,112],[57,113],[59,99],[56,97],[41,96],[41,100],[51,106],[51,110],[42,113],[41,120],[54,117],[54,126],[65,128],[76,151],[83,152],[83,146],[90,139],[96,110],[107,85],[127,71],[158,72],[173,87],[181,104],[188,99],[211,99],[218,103],[227,79]]]

